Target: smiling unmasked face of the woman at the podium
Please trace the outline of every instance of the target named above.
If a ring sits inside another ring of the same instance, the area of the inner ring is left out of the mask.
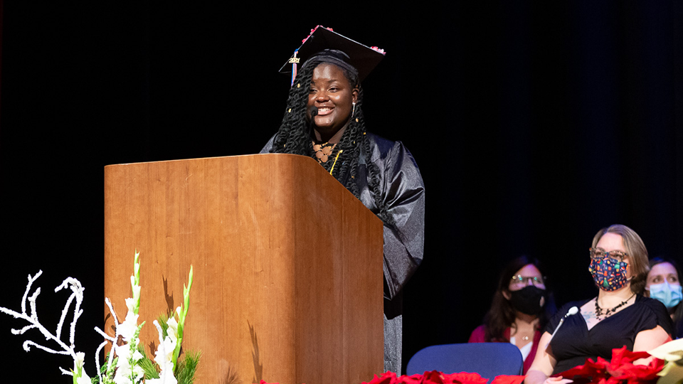
[[[358,89],[351,86],[341,68],[327,63],[318,65],[313,70],[306,112],[310,120],[311,108],[318,109],[318,115],[314,117],[317,139],[327,142],[340,133],[357,100]]]

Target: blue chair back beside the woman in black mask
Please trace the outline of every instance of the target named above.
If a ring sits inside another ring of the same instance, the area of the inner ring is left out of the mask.
[[[443,373],[479,373],[493,380],[497,375],[521,375],[524,359],[511,343],[462,343],[428,346],[415,353],[406,367],[408,375],[438,370]]]

